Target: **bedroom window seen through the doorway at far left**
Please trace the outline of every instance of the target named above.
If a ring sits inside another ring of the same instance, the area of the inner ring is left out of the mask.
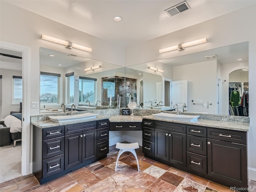
[[[12,103],[22,102],[22,77],[12,76]]]

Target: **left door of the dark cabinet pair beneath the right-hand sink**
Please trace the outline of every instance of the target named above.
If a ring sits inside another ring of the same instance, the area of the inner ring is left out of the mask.
[[[155,157],[169,160],[169,132],[155,129]]]

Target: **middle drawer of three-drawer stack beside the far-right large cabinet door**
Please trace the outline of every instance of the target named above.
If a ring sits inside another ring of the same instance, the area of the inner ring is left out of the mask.
[[[187,135],[187,151],[206,155],[207,154],[207,139],[203,137],[197,137]]]

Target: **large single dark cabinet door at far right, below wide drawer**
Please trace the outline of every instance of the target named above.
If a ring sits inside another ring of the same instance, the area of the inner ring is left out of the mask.
[[[247,187],[246,145],[207,139],[208,175],[226,186]]]

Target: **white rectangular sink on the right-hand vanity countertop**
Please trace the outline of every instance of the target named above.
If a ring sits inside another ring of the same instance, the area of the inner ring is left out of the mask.
[[[171,114],[171,113],[158,113],[158,114],[152,114],[156,118],[163,118],[163,119],[170,119],[170,120],[178,120],[178,121],[188,121],[188,122],[194,122],[197,121],[199,115],[177,115],[177,114]]]

